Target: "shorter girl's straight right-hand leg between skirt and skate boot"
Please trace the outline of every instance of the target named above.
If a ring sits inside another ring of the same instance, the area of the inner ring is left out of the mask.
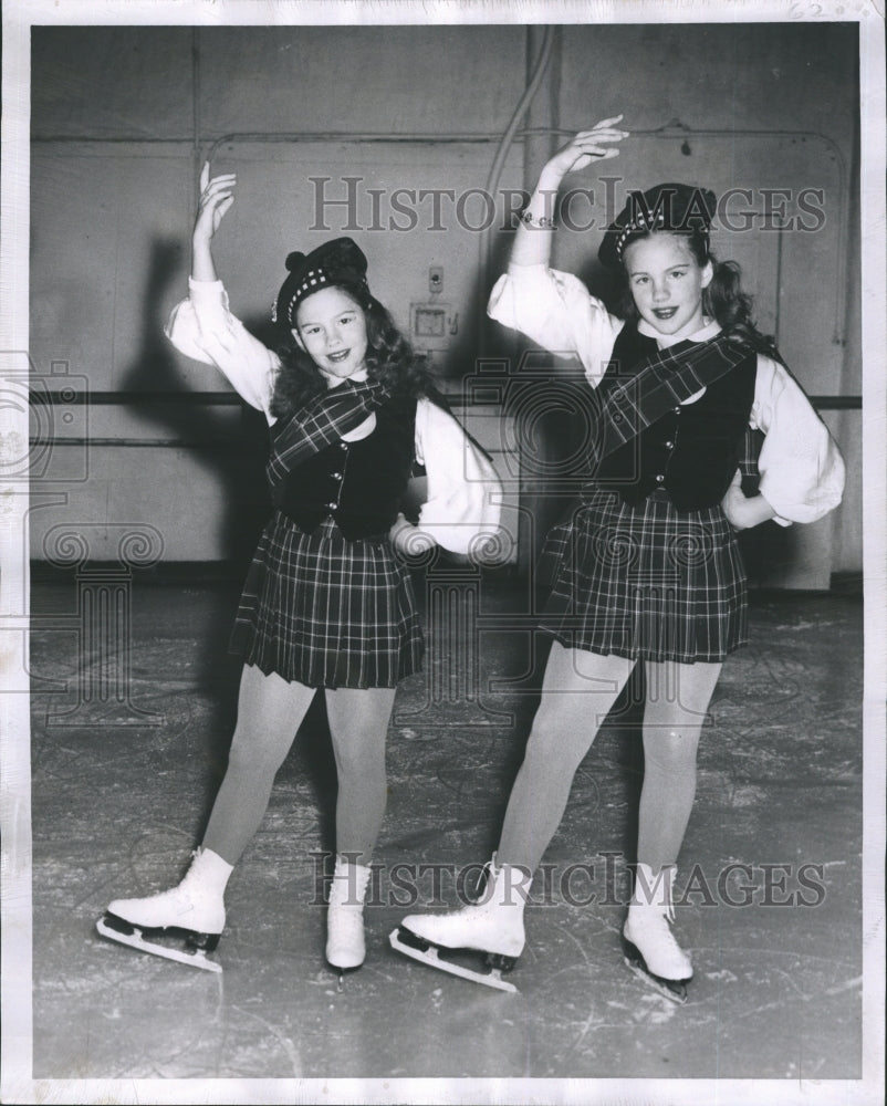
[[[368,865],[387,801],[385,747],[395,688],[326,691],[338,775],[336,852]]]

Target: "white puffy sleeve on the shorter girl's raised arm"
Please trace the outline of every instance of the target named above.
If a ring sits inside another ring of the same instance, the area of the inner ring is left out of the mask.
[[[280,359],[231,314],[221,281],[189,278],[188,299],[173,309],[165,333],[179,353],[215,365],[238,395],[274,421],[269,406]]]

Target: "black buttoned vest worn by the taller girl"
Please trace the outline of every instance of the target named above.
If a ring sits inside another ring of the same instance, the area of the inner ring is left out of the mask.
[[[630,324],[624,326],[598,385],[599,399],[657,348],[655,338],[639,334]],[[594,474],[595,487],[618,491],[632,505],[665,488],[679,511],[714,507],[739,468],[756,373],[758,355],[750,351],[734,369],[710,384],[700,399],[676,406],[605,457]]]

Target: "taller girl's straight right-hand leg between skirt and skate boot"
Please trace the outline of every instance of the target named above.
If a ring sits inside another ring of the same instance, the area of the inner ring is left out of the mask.
[[[699,734],[720,672],[720,664],[646,664],[637,858],[653,872],[678,858],[696,797]]]

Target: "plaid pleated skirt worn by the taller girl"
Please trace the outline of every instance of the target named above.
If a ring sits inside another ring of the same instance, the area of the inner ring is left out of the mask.
[[[542,553],[553,577],[541,628],[570,649],[714,662],[748,641],[748,592],[720,507],[678,512],[666,491],[637,507],[595,491]]]

